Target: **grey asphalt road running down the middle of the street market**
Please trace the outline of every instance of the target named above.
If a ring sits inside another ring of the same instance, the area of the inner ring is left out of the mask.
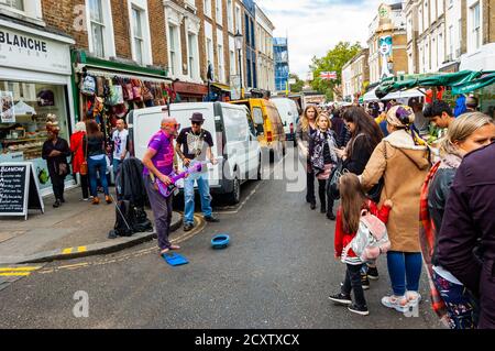
[[[184,266],[166,264],[156,242],[44,265],[0,290],[0,328],[441,328],[425,274],[417,317],[381,306],[389,292],[383,259],[365,293],[370,316],[334,306],[328,295],[344,274],[332,257],[334,222],[304,199],[285,180],[246,184],[240,206],[217,208],[220,223],[182,242]],[[231,244],[215,251],[221,232]],[[77,292],[87,293],[87,318],[74,316]]]

